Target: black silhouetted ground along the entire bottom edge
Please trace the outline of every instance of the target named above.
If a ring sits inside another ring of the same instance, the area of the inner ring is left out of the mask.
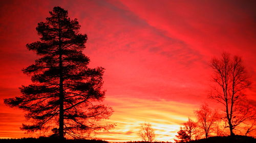
[[[20,139],[0,139],[2,143],[58,143],[60,140],[55,138],[20,138]],[[109,143],[104,140],[96,140],[96,139],[67,139],[61,142],[67,143]],[[242,136],[236,135],[234,137],[231,136],[214,136],[199,140],[189,141],[187,143],[254,143],[256,142],[256,138],[250,136]],[[147,143],[146,141],[128,141],[128,142],[120,142],[120,143]],[[153,141],[151,143],[165,143],[165,141]],[[167,142],[166,142],[167,143]],[[171,143],[171,142],[168,142]]]

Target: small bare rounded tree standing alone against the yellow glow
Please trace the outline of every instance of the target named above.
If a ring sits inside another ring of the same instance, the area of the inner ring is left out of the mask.
[[[139,136],[143,141],[153,141],[156,134],[150,123],[143,123],[140,126]]]

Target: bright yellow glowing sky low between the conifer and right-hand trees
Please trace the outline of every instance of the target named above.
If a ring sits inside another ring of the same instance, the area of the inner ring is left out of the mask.
[[[117,123],[109,132],[97,132],[95,137],[108,141],[141,140],[138,136],[141,123],[151,123],[155,141],[174,141],[182,123],[193,116],[195,105],[174,101],[154,101],[139,98],[106,98],[115,105],[110,123]]]

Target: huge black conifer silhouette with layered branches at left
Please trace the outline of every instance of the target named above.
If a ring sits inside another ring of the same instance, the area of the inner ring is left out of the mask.
[[[94,130],[108,130],[113,125],[100,125],[108,119],[112,108],[96,105],[104,99],[103,68],[88,68],[86,34],[79,34],[77,19],[68,18],[68,11],[54,7],[46,22],[38,23],[36,31],[41,41],[27,44],[41,58],[23,69],[31,75],[33,84],[22,86],[22,96],[5,99],[5,104],[27,111],[26,119],[33,125],[22,129],[34,132],[54,129],[59,138],[87,137]],[[51,126],[51,125],[56,126]]]

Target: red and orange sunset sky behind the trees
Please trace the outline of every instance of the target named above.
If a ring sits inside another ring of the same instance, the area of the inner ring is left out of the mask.
[[[25,45],[38,40],[35,27],[60,6],[77,18],[89,37],[90,66],[104,67],[104,103],[117,123],[106,140],[139,140],[139,124],[150,122],[157,140],[173,141],[180,125],[207,102],[209,61],[223,51],[242,56],[256,103],[255,1],[1,1],[0,137],[33,136],[19,127],[24,113],[4,105],[30,78],[21,69],[36,55]]]

